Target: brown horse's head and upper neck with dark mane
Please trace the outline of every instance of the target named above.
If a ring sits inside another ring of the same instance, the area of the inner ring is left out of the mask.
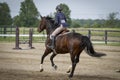
[[[38,32],[42,32],[44,29],[48,30],[51,32],[54,28],[54,20],[51,17],[42,17],[41,16],[41,21],[40,25],[38,27]]]

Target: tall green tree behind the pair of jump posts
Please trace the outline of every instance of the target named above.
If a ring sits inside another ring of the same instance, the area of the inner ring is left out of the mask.
[[[21,3],[19,20],[20,26],[30,27],[38,24],[38,11],[33,0],[25,0]]]

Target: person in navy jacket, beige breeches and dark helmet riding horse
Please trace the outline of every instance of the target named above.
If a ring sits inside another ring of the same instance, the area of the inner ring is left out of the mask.
[[[60,33],[61,31],[63,31],[64,29],[67,28],[68,24],[66,23],[66,17],[64,15],[64,13],[62,12],[62,7],[60,5],[58,5],[56,7],[56,15],[55,15],[55,26],[59,26],[57,27],[52,34],[50,35],[50,39],[51,39],[51,43],[50,45],[48,45],[49,48],[54,49],[54,45],[55,45],[55,36]]]

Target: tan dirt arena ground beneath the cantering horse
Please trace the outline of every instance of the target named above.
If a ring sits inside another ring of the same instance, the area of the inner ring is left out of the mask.
[[[58,69],[51,67],[50,55],[45,58],[44,72],[39,72],[43,43],[33,44],[35,49],[13,50],[14,43],[0,43],[0,80],[68,80],[66,70],[69,54],[57,55],[54,59]],[[106,53],[103,58],[93,58],[82,52],[72,80],[120,80],[120,47],[95,45],[97,52]]]

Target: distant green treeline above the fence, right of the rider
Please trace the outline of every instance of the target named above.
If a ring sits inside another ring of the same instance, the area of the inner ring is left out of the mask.
[[[79,27],[85,28],[120,28],[120,19],[117,18],[118,13],[110,13],[107,19],[72,19],[71,27],[75,27],[74,24],[80,25]]]

